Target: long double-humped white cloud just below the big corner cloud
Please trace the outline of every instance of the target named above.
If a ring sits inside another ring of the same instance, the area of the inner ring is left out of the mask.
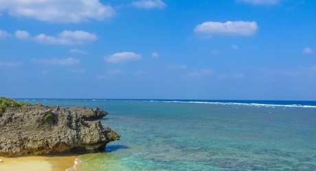
[[[68,31],[65,30],[58,34],[58,36],[47,36],[45,34],[39,34],[34,36],[34,40],[43,44],[83,44],[97,40],[98,37],[95,34],[91,34],[87,31]]]

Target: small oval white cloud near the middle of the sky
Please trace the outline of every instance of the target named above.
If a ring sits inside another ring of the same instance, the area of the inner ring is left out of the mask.
[[[122,62],[139,61],[142,60],[142,56],[133,52],[122,52],[104,57],[104,60],[108,63],[117,64]]]

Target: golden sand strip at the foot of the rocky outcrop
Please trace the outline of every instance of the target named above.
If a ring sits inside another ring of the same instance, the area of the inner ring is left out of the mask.
[[[78,156],[64,157],[0,157],[0,170],[5,171],[65,171],[74,166]]]

